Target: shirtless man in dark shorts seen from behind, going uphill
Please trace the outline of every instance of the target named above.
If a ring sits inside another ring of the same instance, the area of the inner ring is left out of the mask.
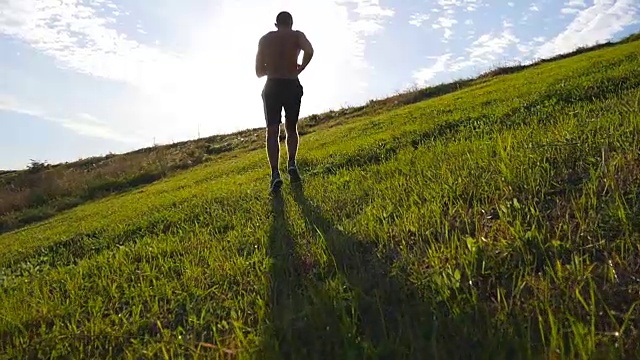
[[[276,17],[276,31],[270,31],[258,43],[256,55],[256,76],[267,76],[262,90],[264,116],[267,122],[267,155],[271,165],[271,190],[282,186],[280,178],[280,124],[282,108],[285,111],[287,152],[289,163],[287,172],[292,182],[300,182],[296,165],[298,152],[298,116],[303,89],[298,75],[309,65],[313,57],[313,47],[301,31],[293,30],[293,18],[283,11]],[[302,64],[298,64],[300,51],[304,51]]]

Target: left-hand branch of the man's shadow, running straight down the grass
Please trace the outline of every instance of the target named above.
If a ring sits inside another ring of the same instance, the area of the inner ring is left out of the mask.
[[[303,260],[297,249],[299,242],[294,241],[287,228],[284,199],[278,195],[272,201],[270,326],[260,358],[362,358],[365,344],[354,326],[358,320],[353,319],[356,314],[349,299],[336,296],[341,293],[339,284],[332,283],[336,272],[318,269]]]

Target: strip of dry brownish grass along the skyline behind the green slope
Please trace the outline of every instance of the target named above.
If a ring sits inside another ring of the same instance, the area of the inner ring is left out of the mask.
[[[354,117],[375,116],[404,105],[459,91],[487,79],[513,74],[529,67],[557,61],[638,40],[640,34],[621,41],[578,48],[567,54],[542,59],[534,64],[499,67],[476,78],[414,89],[395,96],[375,99],[349,107],[301,119],[300,135],[322,131]],[[284,134],[282,134],[284,140]],[[95,156],[64,164],[48,164],[46,159],[32,160],[26,171],[0,170],[0,234],[48,219],[85,202],[100,199],[151,184],[191,167],[218,161],[232,151],[250,151],[264,147],[264,130],[247,129],[232,134],[158,145],[125,154]],[[44,160],[44,161],[43,161]]]

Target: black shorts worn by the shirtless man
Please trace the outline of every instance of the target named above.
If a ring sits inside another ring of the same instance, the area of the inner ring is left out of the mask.
[[[279,125],[282,122],[282,108],[287,123],[298,123],[302,95],[303,89],[298,79],[267,79],[262,90],[267,126]]]

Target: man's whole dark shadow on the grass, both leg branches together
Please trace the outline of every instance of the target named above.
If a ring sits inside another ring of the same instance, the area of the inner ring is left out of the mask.
[[[282,198],[274,198],[270,234],[270,332],[262,358],[283,359],[519,359],[529,358],[528,334],[493,326],[487,304],[453,314],[419,294],[393,256],[335,227],[293,187],[307,225],[324,239],[329,266],[305,269],[287,230]],[[314,240],[317,241],[317,240]],[[343,286],[346,284],[346,286]],[[469,302],[471,303],[471,302]],[[517,349],[520,349],[518,351]]]

